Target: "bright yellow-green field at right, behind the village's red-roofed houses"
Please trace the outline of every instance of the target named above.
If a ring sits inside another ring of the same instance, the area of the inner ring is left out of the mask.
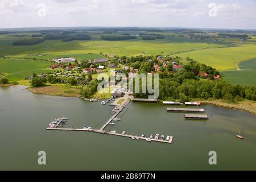
[[[192,59],[212,66],[219,70],[237,69],[237,63],[256,57],[256,45],[245,43],[243,46],[216,48],[216,49],[202,49],[191,52],[179,53],[177,56],[185,59],[191,57]]]

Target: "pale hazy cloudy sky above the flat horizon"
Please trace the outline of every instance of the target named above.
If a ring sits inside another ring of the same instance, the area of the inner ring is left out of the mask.
[[[0,28],[256,29],[256,0],[0,0]]]

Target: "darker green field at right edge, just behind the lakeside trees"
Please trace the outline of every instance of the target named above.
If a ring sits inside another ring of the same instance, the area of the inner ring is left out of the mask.
[[[222,78],[231,84],[256,86],[256,70],[223,71]]]

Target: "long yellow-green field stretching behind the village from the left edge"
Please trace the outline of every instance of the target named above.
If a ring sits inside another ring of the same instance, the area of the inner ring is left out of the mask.
[[[6,40],[7,41],[7,40]],[[118,56],[136,55],[169,55],[177,52],[193,51],[205,48],[226,47],[225,44],[217,43],[189,43],[172,40],[127,40],[127,41],[71,41],[46,40],[33,46],[0,46],[0,52],[5,55],[24,57],[27,55],[79,55],[100,53]],[[162,53],[163,52],[163,53]]]

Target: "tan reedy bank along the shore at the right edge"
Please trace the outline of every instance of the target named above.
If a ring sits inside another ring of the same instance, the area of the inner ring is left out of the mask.
[[[256,102],[255,101],[240,101],[236,103],[228,103],[223,100],[207,100],[207,101],[200,101],[201,104],[213,104],[220,107],[226,107],[229,109],[238,109],[243,110],[252,114],[256,115]]]

